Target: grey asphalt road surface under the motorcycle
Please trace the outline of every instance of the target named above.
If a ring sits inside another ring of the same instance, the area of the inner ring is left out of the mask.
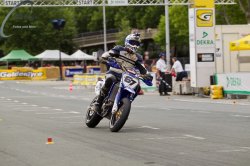
[[[1,166],[250,165],[250,103],[147,94],[111,133],[84,124],[93,90],[68,85],[0,82]]]

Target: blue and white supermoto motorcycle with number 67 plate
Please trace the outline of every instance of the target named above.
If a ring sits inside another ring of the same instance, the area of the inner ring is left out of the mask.
[[[131,103],[139,93],[139,80],[142,80],[148,86],[152,86],[152,80],[145,80],[140,77],[135,68],[129,70],[122,66],[120,68],[124,71],[121,81],[112,84],[107,97],[103,101],[101,114],[98,114],[93,108],[98,96],[90,103],[85,118],[85,123],[89,128],[95,128],[103,118],[107,118],[109,119],[110,131],[118,132],[126,123]]]

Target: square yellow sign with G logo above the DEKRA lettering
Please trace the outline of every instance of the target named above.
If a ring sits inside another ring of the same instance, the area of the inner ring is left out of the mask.
[[[197,27],[213,27],[214,18],[213,18],[212,9],[198,9],[196,10],[196,24]]]

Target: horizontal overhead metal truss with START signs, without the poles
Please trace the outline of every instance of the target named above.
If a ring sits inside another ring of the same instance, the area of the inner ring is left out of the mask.
[[[0,0],[0,7],[13,7],[23,0]],[[190,5],[192,0],[30,0],[33,7],[91,7],[91,6],[163,6],[163,5]],[[125,2],[125,3],[124,3]],[[235,4],[235,0],[215,0],[215,4]],[[25,6],[25,5],[24,5]],[[27,6],[30,6],[27,4]]]

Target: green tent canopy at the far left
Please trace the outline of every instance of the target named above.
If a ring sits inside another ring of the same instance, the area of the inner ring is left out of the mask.
[[[25,50],[12,50],[8,55],[0,59],[0,61],[4,61],[4,62],[30,61],[30,60],[37,60],[37,58],[30,55]]]

